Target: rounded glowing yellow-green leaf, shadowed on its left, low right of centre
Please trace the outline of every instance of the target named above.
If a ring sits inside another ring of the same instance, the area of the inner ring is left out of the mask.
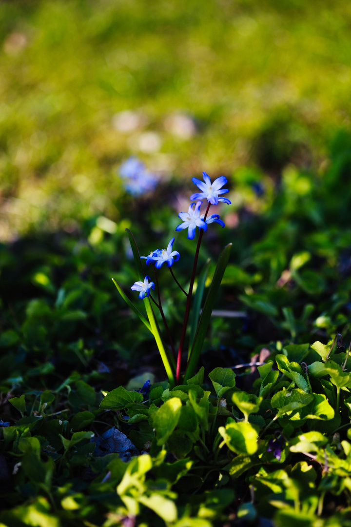
[[[252,455],[257,451],[257,427],[250,423],[232,421],[225,427],[220,426],[218,432],[228,448],[237,454]]]

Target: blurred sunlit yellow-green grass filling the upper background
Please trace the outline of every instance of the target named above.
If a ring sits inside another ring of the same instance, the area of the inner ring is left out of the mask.
[[[0,238],[123,218],[130,154],[175,181],[323,172],[350,121],[350,24],[346,0],[2,2]],[[124,110],[141,116],[128,133]],[[172,131],[175,112],[197,132]]]

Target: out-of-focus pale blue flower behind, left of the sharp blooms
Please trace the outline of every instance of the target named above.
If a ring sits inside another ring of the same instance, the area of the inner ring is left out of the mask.
[[[123,179],[124,188],[132,196],[142,196],[153,192],[157,187],[157,175],[149,172],[145,164],[134,156],[121,164],[119,175]]]

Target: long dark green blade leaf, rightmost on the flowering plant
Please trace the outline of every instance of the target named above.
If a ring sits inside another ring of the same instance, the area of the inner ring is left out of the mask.
[[[199,321],[197,331],[196,331],[196,335],[194,338],[193,347],[190,352],[190,357],[188,360],[188,365],[187,365],[185,376],[184,376],[185,382],[194,375],[194,372],[195,372],[195,369],[198,363],[198,359],[202,351],[202,347],[203,347],[204,340],[206,337],[207,328],[208,328],[212,310],[215,304],[220,282],[222,281],[225,268],[228,264],[229,253],[230,253],[231,248],[232,248],[232,243],[229,243],[219,255],[219,258],[217,261],[217,267],[215,270],[215,275],[213,277],[212,284],[210,285],[209,291],[207,293],[205,305],[202,310],[202,314],[201,314],[200,321]]]

